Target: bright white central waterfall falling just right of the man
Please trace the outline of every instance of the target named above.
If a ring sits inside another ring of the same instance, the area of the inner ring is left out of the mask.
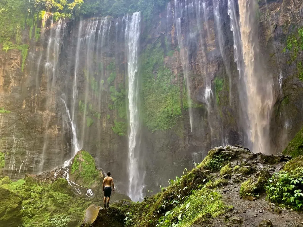
[[[128,62],[128,196],[132,201],[143,200],[143,180],[139,173],[139,154],[136,149],[139,130],[139,82],[138,82],[138,47],[140,37],[141,12],[135,12],[131,20],[126,19],[125,43]]]

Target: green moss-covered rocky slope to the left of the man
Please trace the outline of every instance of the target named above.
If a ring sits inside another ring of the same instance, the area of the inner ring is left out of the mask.
[[[68,191],[65,179],[57,181]],[[55,181],[53,184],[57,183]],[[20,227],[68,227],[82,221],[85,209],[92,203],[73,193],[58,192],[53,184],[37,183],[31,177],[0,186],[0,225]],[[3,215],[4,214],[4,215]]]

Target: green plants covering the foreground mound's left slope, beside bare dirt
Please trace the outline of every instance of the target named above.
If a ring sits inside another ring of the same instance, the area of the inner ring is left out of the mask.
[[[232,209],[224,205],[216,190],[204,185],[207,182],[199,166],[189,172],[185,169],[181,177],[169,180],[168,187],[160,186],[161,192],[155,196],[142,203],[120,207],[126,215],[125,226],[194,226],[207,215],[216,217]]]

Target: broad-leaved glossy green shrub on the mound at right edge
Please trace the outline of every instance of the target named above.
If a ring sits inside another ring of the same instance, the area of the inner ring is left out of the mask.
[[[265,186],[266,199],[271,202],[285,203],[295,209],[303,207],[303,170],[298,169],[295,176],[281,171],[268,180]]]

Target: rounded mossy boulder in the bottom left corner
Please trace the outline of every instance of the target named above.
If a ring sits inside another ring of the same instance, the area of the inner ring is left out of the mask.
[[[14,192],[0,187],[0,226],[15,227],[20,224],[22,199]]]

